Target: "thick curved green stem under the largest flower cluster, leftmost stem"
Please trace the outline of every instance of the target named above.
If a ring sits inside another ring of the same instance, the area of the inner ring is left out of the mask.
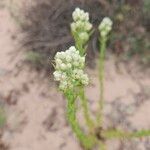
[[[92,149],[93,145],[95,144],[95,141],[94,141],[93,137],[86,135],[82,131],[82,129],[80,128],[80,125],[76,119],[76,106],[75,106],[76,97],[74,96],[73,92],[67,92],[66,97],[67,97],[68,122],[69,122],[73,132],[75,133],[75,135],[81,142],[82,146],[85,149],[90,150],[90,149]]]

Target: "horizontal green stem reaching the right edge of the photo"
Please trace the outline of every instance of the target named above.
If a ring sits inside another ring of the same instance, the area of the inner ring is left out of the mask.
[[[141,138],[141,137],[150,136],[150,130],[140,130],[136,132],[125,132],[121,130],[107,130],[107,131],[103,131],[103,135],[108,139]]]

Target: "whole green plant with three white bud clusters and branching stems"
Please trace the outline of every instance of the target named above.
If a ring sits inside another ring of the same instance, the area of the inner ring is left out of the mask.
[[[67,99],[67,119],[79,139],[80,144],[86,150],[92,150],[97,145],[99,150],[106,150],[105,141],[112,138],[137,138],[150,136],[150,130],[137,132],[126,132],[119,129],[103,128],[103,107],[104,107],[104,60],[106,43],[112,29],[112,21],[105,17],[98,29],[100,32],[100,53],[99,53],[99,82],[100,99],[99,110],[95,120],[91,118],[88,108],[88,101],[85,96],[84,87],[88,85],[89,78],[84,72],[86,44],[92,34],[92,24],[89,22],[89,13],[76,8],[72,14],[74,22],[71,23],[71,31],[75,40],[75,46],[68,50],[57,52],[55,55],[54,79],[59,82],[59,89]],[[88,130],[85,132],[80,127],[76,117],[76,102],[80,100],[84,119]]]

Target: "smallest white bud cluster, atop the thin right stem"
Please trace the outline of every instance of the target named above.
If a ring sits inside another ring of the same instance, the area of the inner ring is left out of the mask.
[[[112,24],[113,22],[111,21],[110,18],[105,17],[102,22],[100,23],[98,29],[101,33],[101,36],[106,36],[112,29]]]

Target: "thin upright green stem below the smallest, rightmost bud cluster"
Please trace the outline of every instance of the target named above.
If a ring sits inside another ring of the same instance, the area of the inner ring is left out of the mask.
[[[98,125],[102,125],[102,113],[104,107],[104,58],[106,49],[106,37],[101,38],[100,56],[99,56],[99,82],[100,82],[100,99],[99,99],[99,112],[97,116]]]

